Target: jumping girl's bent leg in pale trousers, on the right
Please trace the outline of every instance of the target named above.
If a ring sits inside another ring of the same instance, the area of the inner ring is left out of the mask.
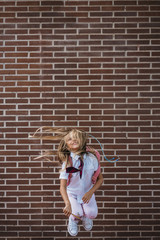
[[[83,211],[85,217],[94,219],[97,217],[98,214],[98,207],[95,199],[95,195],[93,194],[92,198],[90,199],[89,203],[83,204]]]

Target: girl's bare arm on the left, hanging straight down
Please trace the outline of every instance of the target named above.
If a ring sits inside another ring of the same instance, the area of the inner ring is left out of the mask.
[[[61,179],[61,181],[60,181],[60,193],[61,193],[62,198],[63,198],[64,203],[65,203],[65,208],[63,209],[63,212],[67,217],[69,217],[72,213],[72,208],[71,208],[71,204],[70,204],[66,189],[67,189],[67,180],[66,179]]]

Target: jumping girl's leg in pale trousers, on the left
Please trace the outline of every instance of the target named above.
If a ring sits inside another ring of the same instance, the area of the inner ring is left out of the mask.
[[[79,218],[81,218],[83,216],[83,209],[80,203],[77,202],[76,196],[73,196],[72,194],[68,194],[70,203],[71,203],[71,207],[72,207],[72,213],[76,216],[78,216]],[[78,222],[78,218],[74,217],[73,215],[70,216],[72,218],[72,220],[77,220]]]

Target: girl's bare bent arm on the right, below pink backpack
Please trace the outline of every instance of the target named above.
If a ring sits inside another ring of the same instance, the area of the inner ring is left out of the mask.
[[[84,203],[89,203],[93,193],[95,193],[95,191],[100,188],[102,183],[103,183],[103,175],[102,175],[102,173],[100,173],[95,185],[87,193],[84,194],[84,196],[82,198]]]

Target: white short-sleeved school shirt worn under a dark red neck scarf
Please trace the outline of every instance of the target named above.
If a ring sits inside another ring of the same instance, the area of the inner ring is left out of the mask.
[[[80,160],[79,155],[75,155],[71,152],[72,166],[79,168]],[[70,184],[67,186],[67,193],[71,193],[76,196],[79,203],[83,203],[82,197],[86,192],[88,192],[92,187],[92,176],[94,172],[98,169],[98,160],[92,153],[85,153],[83,155],[83,171],[82,178],[80,178],[80,172],[72,173],[70,179]],[[60,173],[59,179],[68,179],[69,173],[66,173],[66,170],[63,171],[65,163],[62,164],[62,172]]]

